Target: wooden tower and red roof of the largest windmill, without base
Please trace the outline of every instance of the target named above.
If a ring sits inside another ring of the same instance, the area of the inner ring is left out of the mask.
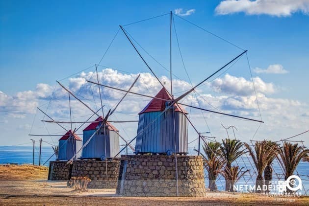
[[[139,113],[135,154],[187,154],[188,113],[179,104],[175,104],[164,115],[160,115],[172,101],[172,97],[165,88],[155,97]],[[148,126],[150,122],[153,122],[152,126]]]

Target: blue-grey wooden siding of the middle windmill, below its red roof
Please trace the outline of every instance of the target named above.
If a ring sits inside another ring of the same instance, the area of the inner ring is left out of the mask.
[[[87,130],[83,132],[83,144],[91,137],[96,130]],[[105,129],[105,134],[100,132],[96,134],[90,142],[82,150],[81,157],[84,159],[101,158],[113,158],[119,152],[119,135],[115,131]],[[104,138],[106,137],[106,142]],[[106,154],[105,154],[106,143]]]

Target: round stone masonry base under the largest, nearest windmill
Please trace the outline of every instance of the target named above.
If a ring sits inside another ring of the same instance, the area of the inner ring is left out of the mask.
[[[122,196],[203,197],[206,195],[200,156],[122,155],[116,194]]]

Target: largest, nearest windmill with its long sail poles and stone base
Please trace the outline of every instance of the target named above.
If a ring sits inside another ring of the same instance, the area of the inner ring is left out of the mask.
[[[205,182],[204,182],[204,170],[203,170],[203,160],[200,156],[185,156],[188,153],[188,135],[187,135],[187,127],[188,122],[193,127],[194,131],[199,136],[200,139],[208,146],[208,143],[205,140],[204,136],[201,136],[201,133],[197,130],[195,125],[192,123],[190,118],[186,115],[187,112],[182,108],[182,106],[191,107],[194,109],[207,111],[214,114],[221,114],[232,116],[240,119],[246,119],[250,121],[256,121],[263,123],[261,120],[242,117],[233,114],[226,114],[222,112],[216,112],[212,110],[207,110],[201,107],[194,107],[190,105],[186,105],[180,103],[180,100],[185,98],[191,92],[195,91],[199,86],[204,84],[211,77],[216,75],[221,70],[225,69],[235,61],[237,61],[241,56],[246,54],[247,50],[243,50],[240,54],[234,57],[231,61],[225,64],[220,69],[217,69],[214,73],[206,77],[203,81],[198,83],[196,86],[192,87],[187,92],[180,94],[178,97],[173,96],[173,85],[172,85],[172,35],[171,35],[171,27],[172,27],[172,18],[173,14],[170,13],[170,83],[171,89],[169,92],[165,88],[165,83],[162,83],[157,75],[154,73],[153,69],[146,62],[145,58],[139,52],[137,47],[134,45],[132,37],[130,38],[128,32],[124,29],[123,26],[120,25],[120,29],[128,39],[130,45],[134,48],[137,55],[144,62],[146,67],[153,74],[154,78],[158,81],[158,83],[162,86],[161,90],[155,95],[145,95],[137,92],[130,92],[127,90],[110,87],[108,85],[103,85],[97,82],[93,82],[88,80],[88,82],[103,86],[109,89],[122,91],[126,93],[132,93],[139,96],[149,97],[152,100],[148,103],[148,105],[139,113],[139,123],[137,129],[137,135],[131,139],[129,143],[136,139],[135,144],[135,155],[126,156],[123,155],[121,158],[121,166],[119,172],[119,181],[116,189],[116,193],[125,196],[161,196],[161,193],[153,193],[149,192],[147,189],[147,182],[153,181],[163,181],[166,185],[168,184],[168,188],[176,188],[175,193],[171,192],[169,194],[164,194],[164,196],[204,196],[205,195]],[[135,41],[136,42],[136,41]],[[138,43],[137,43],[138,44]],[[147,53],[147,52],[146,52]],[[124,150],[123,148],[122,150]],[[119,155],[122,150],[117,154]],[[210,149],[211,150],[211,149]],[[200,151],[199,151],[200,153]],[[214,151],[212,151],[214,153]],[[214,153],[215,154],[215,153]],[[116,155],[116,156],[117,156]],[[162,156],[163,155],[163,156]],[[115,156],[115,157],[116,157]],[[221,162],[219,157],[215,154],[215,157]],[[160,158],[160,159],[159,159]],[[180,160],[178,160],[180,159]],[[157,161],[162,163],[158,164]],[[193,162],[190,162],[193,161]],[[135,165],[137,162],[143,162],[146,166]],[[148,164],[150,162],[150,164]],[[172,162],[171,164],[168,162]],[[184,162],[185,166],[183,166],[182,162]],[[186,162],[190,162],[186,164]],[[174,175],[166,175],[170,174],[170,171],[166,171],[167,168],[164,165],[173,165],[173,170],[175,169]],[[178,168],[180,164],[180,168]],[[148,167],[148,165],[157,165],[152,168]],[[198,165],[198,169],[195,170],[191,165]],[[139,168],[139,170],[135,170],[134,168]],[[187,171],[194,171],[194,175],[187,173]],[[184,174],[180,175],[179,174]],[[189,177],[192,176],[192,177]],[[134,178],[133,183],[131,183]],[[174,179],[175,178],[175,179]],[[175,182],[174,182],[175,181]],[[193,185],[193,183],[198,183],[194,187],[180,187],[179,181],[181,185]],[[143,192],[139,192],[134,185],[143,184]],[[158,184],[160,185],[160,184]],[[156,187],[153,185],[153,187]],[[158,186],[158,190],[160,191],[160,186]]]

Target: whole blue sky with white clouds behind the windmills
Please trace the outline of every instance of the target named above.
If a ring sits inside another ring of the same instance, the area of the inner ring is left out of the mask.
[[[161,89],[119,25],[170,90],[170,11],[174,96],[248,50],[181,102],[264,123],[186,108],[200,132],[220,140],[234,137],[223,128],[233,125],[242,141],[277,141],[309,130],[309,0],[0,0],[0,145],[31,145],[28,134],[65,133],[42,122],[48,117],[36,109],[70,120],[68,93],[56,80],[99,110],[99,88],[86,82],[98,81],[95,64],[102,84],[129,89],[141,73],[132,91],[155,95]],[[123,92],[101,92],[106,114]],[[129,95],[111,120],[138,120],[149,101]],[[75,121],[92,114],[72,96],[71,112]],[[136,122],[115,126],[126,139],[136,136]],[[64,127],[71,129],[70,124]],[[189,142],[196,137],[189,125]],[[309,145],[308,137],[293,140]],[[42,138],[56,144],[58,137]],[[189,147],[196,145],[194,141]]]

